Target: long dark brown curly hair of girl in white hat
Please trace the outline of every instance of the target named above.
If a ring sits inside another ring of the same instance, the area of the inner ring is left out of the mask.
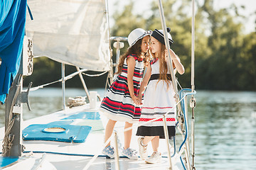
[[[144,60],[144,64],[147,64],[149,62],[149,52],[142,52],[142,39],[143,38],[137,40],[137,42],[132,45],[132,47],[129,47],[127,52],[125,52],[124,55],[119,58],[117,72],[115,74],[120,74],[122,72],[124,60],[128,55],[136,55],[138,57],[138,60]]]

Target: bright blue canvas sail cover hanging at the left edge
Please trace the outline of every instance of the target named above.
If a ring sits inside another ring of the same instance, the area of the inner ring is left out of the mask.
[[[0,101],[4,103],[21,62],[26,0],[0,1]]]

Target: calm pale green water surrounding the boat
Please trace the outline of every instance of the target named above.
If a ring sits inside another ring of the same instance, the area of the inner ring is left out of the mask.
[[[90,90],[105,94],[105,89]],[[31,91],[32,111],[23,105],[23,119],[60,110],[61,96],[61,89]],[[67,89],[66,96],[85,96],[85,91]],[[4,111],[0,106],[1,127]],[[256,169],[256,92],[197,91],[195,145],[196,169]]]

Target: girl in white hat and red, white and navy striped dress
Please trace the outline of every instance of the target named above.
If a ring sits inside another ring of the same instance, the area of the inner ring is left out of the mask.
[[[149,50],[149,38],[150,34],[142,28],[132,30],[128,36],[128,50],[120,57],[117,67],[119,75],[100,106],[100,111],[109,118],[105,130],[105,142],[111,137],[117,121],[125,122],[124,128],[130,128],[132,123],[139,121],[141,107],[136,105],[139,101],[137,94],[139,94],[144,65],[148,60],[145,56]],[[124,132],[122,154],[129,159],[138,159],[137,152],[129,147],[131,138],[132,130]],[[114,157],[114,149],[110,146],[110,142],[102,153]]]

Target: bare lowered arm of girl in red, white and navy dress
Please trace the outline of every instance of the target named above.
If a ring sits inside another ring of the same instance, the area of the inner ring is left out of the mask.
[[[134,68],[135,68],[136,61],[134,57],[128,57],[127,58],[127,84],[128,84],[128,89],[129,89],[129,94],[132,97],[132,100],[134,102],[137,101],[137,96],[134,95],[134,83],[133,83],[133,75],[134,75]]]

